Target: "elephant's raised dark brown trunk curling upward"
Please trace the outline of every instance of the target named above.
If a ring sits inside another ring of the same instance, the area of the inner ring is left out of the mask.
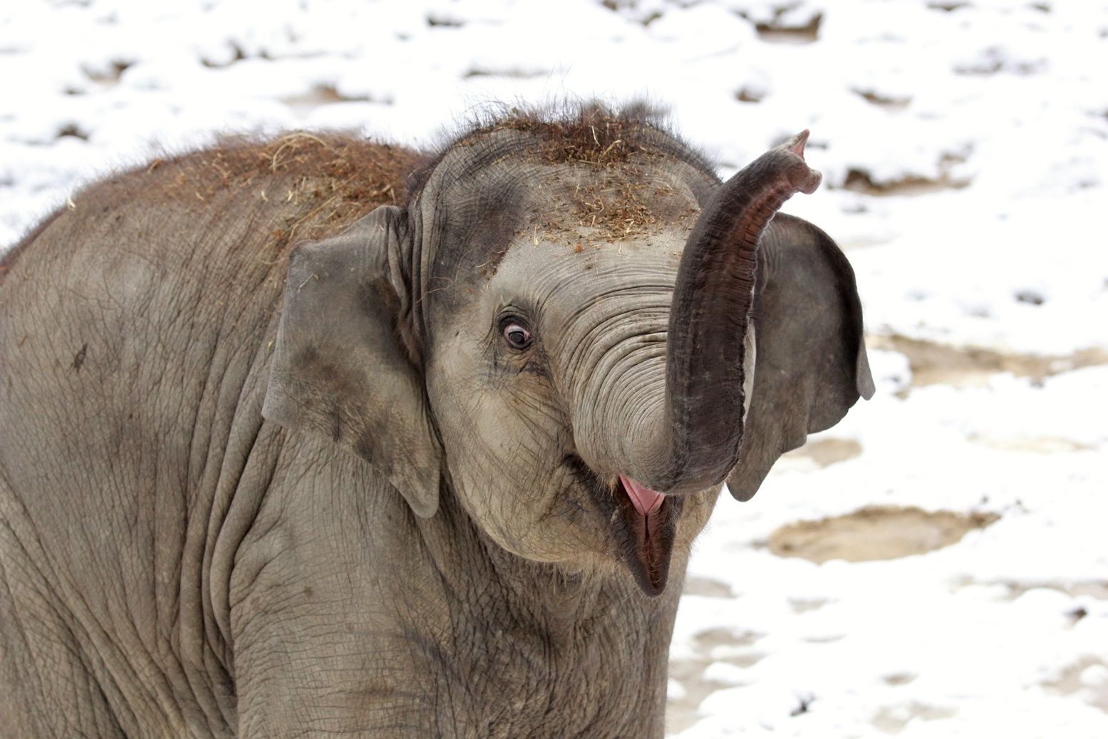
[[[807,141],[804,131],[728,179],[689,235],[669,314],[666,402],[632,460],[646,487],[702,490],[738,462],[758,242],[784,201],[819,186]]]

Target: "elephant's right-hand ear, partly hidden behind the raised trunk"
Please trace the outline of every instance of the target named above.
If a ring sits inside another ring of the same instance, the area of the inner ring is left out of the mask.
[[[773,462],[873,396],[854,270],[812,224],[778,214],[762,235],[755,381],[731,495],[753,497]]]

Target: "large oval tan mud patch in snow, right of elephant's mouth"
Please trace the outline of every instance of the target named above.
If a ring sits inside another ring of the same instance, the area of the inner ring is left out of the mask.
[[[924,554],[962,541],[997,521],[993,513],[927,512],[916,507],[870,506],[854,513],[781,526],[769,537],[781,557],[869,562]]]

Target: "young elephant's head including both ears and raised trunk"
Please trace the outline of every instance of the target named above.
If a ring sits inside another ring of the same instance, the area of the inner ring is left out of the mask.
[[[720,183],[636,111],[478,126],[406,207],[294,250],[266,418],[657,595],[726,479],[749,497],[872,392],[849,264],[774,217],[820,182],[806,140]]]

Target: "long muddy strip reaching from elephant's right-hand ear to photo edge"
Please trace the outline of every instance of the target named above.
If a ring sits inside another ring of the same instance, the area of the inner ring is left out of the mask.
[[[1068,356],[1002,353],[981,347],[954,347],[911,339],[905,336],[870,336],[866,346],[891,349],[907,357],[912,384],[984,386],[991,374],[1010,372],[1016,377],[1043,380],[1059,372],[1108,365],[1108,351],[1081,349]]]

